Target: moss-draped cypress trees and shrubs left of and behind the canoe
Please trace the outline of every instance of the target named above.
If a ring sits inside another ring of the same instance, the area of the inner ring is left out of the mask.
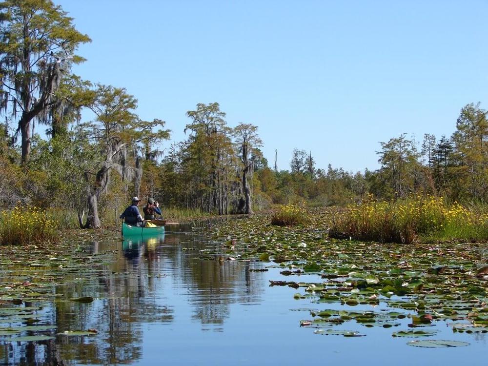
[[[173,202],[219,214],[229,207],[252,212],[251,155],[261,144],[256,126],[229,128],[218,103],[199,103],[187,112],[188,140],[172,146],[159,164],[161,142],[170,137],[165,122],[142,120],[137,99],[125,88],[71,72],[84,61],[77,49],[90,39],[61,6],[6,0],[0,11],[3,205],[73,208],[80,226],[99,227],[101,203],[119,207],[117,197],[125,201],[142,189],[156,196],[163,175],[175,184]],[[82,118],[86,112],[94,116],[89,122]],[[35,133],[39,124],[46,126],[47,139]]]

